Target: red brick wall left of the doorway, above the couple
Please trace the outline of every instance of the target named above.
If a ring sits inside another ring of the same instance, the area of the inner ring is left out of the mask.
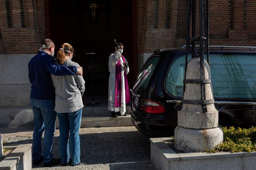
[[[45,36],[44,0],[0,0],[0,8],[0,53],[36,53]]]

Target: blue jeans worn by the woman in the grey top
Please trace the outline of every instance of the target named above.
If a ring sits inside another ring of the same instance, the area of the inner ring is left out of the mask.
[[[69,161],[69,142],[70,134],[70,153],[72,165],[80,163],[80,137],[79,129],[82,119],[82,109],[72,113],[57,113],[60,124],[60,157],[62,164]]]

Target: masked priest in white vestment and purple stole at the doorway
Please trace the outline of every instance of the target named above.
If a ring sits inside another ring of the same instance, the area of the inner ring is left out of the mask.
[[[122,55],[124,45],[117,43],[116,51],[109,56],[108,70],[108,110],[112,117],[126,116],[126,103],[130,103],[130,92],[127,74],[129,73],[128,62]]]

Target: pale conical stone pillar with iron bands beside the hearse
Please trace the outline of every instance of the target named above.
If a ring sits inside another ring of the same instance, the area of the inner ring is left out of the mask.
[[[223,132],[218,128],[218,111],[214,106],[210,68],[204,61],[205,100],[202,100],[200,82],[200,59],[188,61],[182,109],[178,111],[178,126],[174,131],[174,146],[185,152],[205,151],[223,141]],[[197,103],[197,104],[195,104]],[[209,103],[209,104],[206,104]]]

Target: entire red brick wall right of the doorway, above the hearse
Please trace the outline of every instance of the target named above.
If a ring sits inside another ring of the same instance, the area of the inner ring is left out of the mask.
[[[166,3],[171,4],[171,28],[163,24]],[[138,0],[139,54],[186,44],[185,5],[186,0]],[[256,0],[209,0],[209,8],[210,45],[256,46]]]

